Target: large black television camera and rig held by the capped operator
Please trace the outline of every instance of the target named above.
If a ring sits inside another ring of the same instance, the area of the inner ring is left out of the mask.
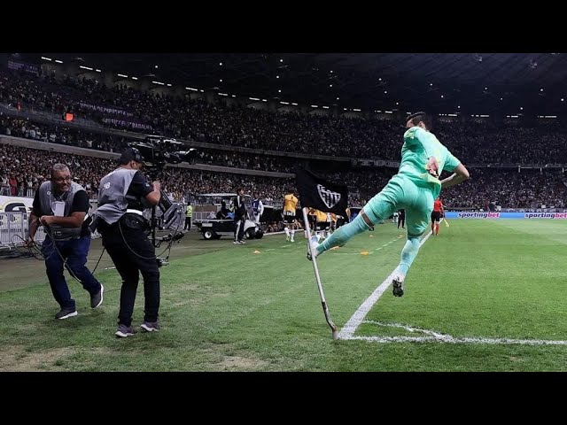
[[[190,164],[197,158],[197,150],[189,148],[180,151],[183,143],[175,139],[160,135],[146,135],[143,142],[128,143],[128,146],[136,148],[144,157],[144,171],[149,174],[151,181],[158,180],[158,174],[163,172],[167,164],[180,164],[183,161]],[[151,207],[151,220],[149,234],[151,243],[157,248],[163,242],[178,242],[185,235],[183,228],[185,216],[183,205],[176,203],[167,197],[167,193],[161,190],[158,205],[144,205]],[[156,206],[160,214],[156,213]],[[156,237],[156,229],[173,229],[173,235]]]

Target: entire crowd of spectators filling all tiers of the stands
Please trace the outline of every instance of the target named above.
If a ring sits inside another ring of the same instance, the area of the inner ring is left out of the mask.
[[[0,104],[16,109],[74,112],[77,116],[105,126],[105,118],[120,117],[144,123],[156,133],[178,139],[220,145],[244,146],[271,151],[381,158],[400,160],[403,125],[392,120],[363,120],[312,116],[296,112],[260,111],[243,106],[208,104],[204,100],[170,97],[141,92],[117,84],[106,88],[94,80],[30,77],[0,72]],[[93,108],[93,105],[106,109]],[[101,131],[83,131],[34,120],[0,117],[0,134],[15,135],[49,143],[59,143],[103,151],[121,151],[131,142],[126,136]],[[114,127],[120,127],[114,125]],[[129,128],[139,130],[139,128]],[[141,131],[141,130],[140,130]],[[556,164],[567,163],[567,130],[560,126],[495,126],[492,121],[466,123],[439,122],[433,132],[439,140],[468,164]],[[0,145],[0,189],[11,195],[25,195],[35,189],[54,162],[69,164],[77,182],[92,196],[100,177],[113,169],[110,160]],[[250,170],[293,173],[307,160],[236,151],[199,149],[198,163]],[[559,171],[509,168],[471,168],[470,182],[443,192],[447,205],[478,207],[487,200],[517,208],[540,205],[564,207],[563,173]],[[384,187],[395,168],[359,168],[349,172],[322,173],[337,182],[346,182],[351,204],[361,204]],[[247,174],[210,173],[168,167],[164,187],[175,197],[207,192],[234,192],[244,186],[248,193],[258,190],[265,199],[278,200],[293,184],[281,178]]]

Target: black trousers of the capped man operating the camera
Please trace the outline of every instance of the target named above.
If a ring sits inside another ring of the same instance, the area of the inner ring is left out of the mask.
[[[120,234],[121,229],[121,234]],[[120,289],[120,313],[118,323],[132,324],[136,303],[136,290],[140,274],[144,278],[144,321],[158,321],[159,268],[155,248],[142,228],[128,228],[122,220],[107,228],[101,228],[103,245],[113,259],[122,278]]]

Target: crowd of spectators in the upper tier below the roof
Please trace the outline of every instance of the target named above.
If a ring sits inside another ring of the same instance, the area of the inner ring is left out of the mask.
[[[107,88],[84,78],[57,81],[5,71],[0,73],[0,103],[57,113],[73,111],[98,122],[120,116],[180,139],[350,158],[398,160],[403,134],[403,125],[392,120],[263,111],[142,92],[121,84]],[[92,110],[82,106],[85,103],[110,109]],[[567,162],[562,149],[567,142],[564,126],[495,127],[491,121],[469,120],[466,124],[439,122],[434,131],[464,163]]]

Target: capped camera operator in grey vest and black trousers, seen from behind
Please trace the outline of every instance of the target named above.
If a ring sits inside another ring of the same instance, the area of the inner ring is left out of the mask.
[[[114,335],[133,336],[132,313],[136,302],[139,274],[144,277],[145,331],[159,330],[159,268],[155,249],[146,236],[150,223],[144,218],[144,207],[157,205],[161,197],[159,182],[150,184],[138,171],[144,158],[136,148],[122,151],[120,166],[100,181],[97,228],[103,246],[122,277],[118,328]]]

